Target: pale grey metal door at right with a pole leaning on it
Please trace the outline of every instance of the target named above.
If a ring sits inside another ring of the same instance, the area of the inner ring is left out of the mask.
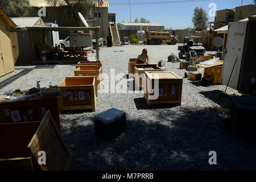
[[[226,40],[226,49],[224,51],[224,63],[221,76],[221,83],[227,85],[230,78],[228,86],[230,86],[233,89],[237,89],[238,87],[243,47],[245,44],[246,27],[247,22],[229,23],[228,37]],[[234,66],[235,61],[236,65]],[[234,70],[232,73],[233,67]]]

